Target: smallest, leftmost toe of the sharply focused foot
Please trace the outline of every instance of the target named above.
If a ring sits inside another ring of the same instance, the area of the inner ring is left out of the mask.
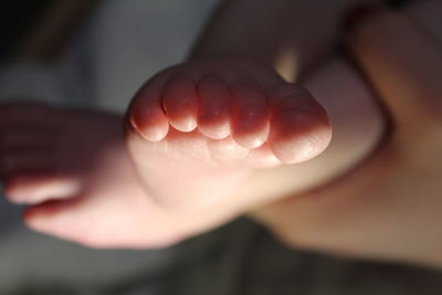
[[[128,129],[149,141],[162,140],[169,131],[169,123],[161,105],[162,85],[147,83],[135,96],[128,110]]]

